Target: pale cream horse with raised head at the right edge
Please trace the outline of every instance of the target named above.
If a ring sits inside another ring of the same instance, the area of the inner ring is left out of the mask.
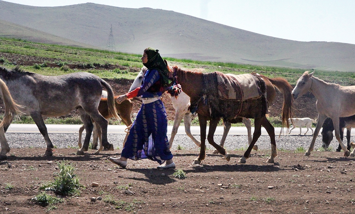
[[[355,114],[355,86],[340,86],[339,84],[326,83],[322,79],[313,76],[313,73],[306,71],[297,80],[296,86],[292,93],[295,99],[302,94],[312,92],[316,97],[316,107],[318,111],[318,123],[313,133],[313,138],[308,151],[305,155],[310,155],[318,133],[323,125],[324,120],[330,117],[333,120],[335,137],[340,146],[344,150],[344,156],[355,156],[355,153],[348,151],[340,138],[339,117],[349,117]]]

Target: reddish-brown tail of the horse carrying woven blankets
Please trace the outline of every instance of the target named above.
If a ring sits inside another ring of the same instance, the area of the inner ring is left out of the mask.
[[[282,128],[281,131],[283,131],[284,126],[286,125],[287,130],[289,130],[289,118],[294,118],[294,112],[293,112],[293,95],[292,95],[292,86],[290,85],[289,82],[287,82],[286,79],[281,78],[281,77],[275,77],[275,78],[268,78],[266,77],[276,88],[280,90],[281,93],[284,95],[284,103],[282,105],[282,111],[281,111],[281,118],[282,118]],[[292,119],[291,119],[292,120]],[[281,133],[280,133],[281,134]]]

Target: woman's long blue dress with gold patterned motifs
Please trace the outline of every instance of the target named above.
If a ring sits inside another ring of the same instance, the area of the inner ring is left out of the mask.
[[[148,70],[149,71],[149,70]],[[138,95],[146,97],[158,97],[162,92],[148,92],[148,88],[159,80],[159,73],[156,70],[146,72],[143,78],[143,85]],[[129,136],[122,149],[122,157],[132,160],[149,158],[162,164],[165,160],[173,158],[169,149],[169,141],[166,133],[168,131],[168,119],[162,100],[142,104],[138,111],[136,120],[133,122]],[[152,140],[149,136],[152,135]]]

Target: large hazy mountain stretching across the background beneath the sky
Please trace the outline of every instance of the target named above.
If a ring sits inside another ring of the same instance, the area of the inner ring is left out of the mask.
[[[333,71],[355,71],[355,45],[298,42],[225,26],[174,11],[129,9],[93,3],[34,7],[0,1],[2,20],[99,48],[110,24],[117,51]]]

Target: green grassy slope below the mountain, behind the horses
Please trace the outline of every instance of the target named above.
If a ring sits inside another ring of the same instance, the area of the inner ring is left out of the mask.
[[[4,57],[6,53],[18,54],[18,57],[44,57],[45,60],[42,64],[26,66],[26,71],[40,73],[43,75],[61,75],[69,72],[78,72],[80,70],[64,70],[60,67],[45,67],[46,63],[55,62],[60,65],[69,64],[83,64],[83,65],[95,65],[95,64],[111,64],[119,65],[120,69],[115,68],[108,70],[104,68],[91,68],[85,70],[86,72],[94,73],[102,78],[123,78],[134,79],[137,72],[131,72],[137,70],[142,66],[140,62],[141,55],[127,54],[119,52],[110,52],[98,49],[78,48],[72,46],[62,45],[49,45],[26,42],[19,39],[0,39],[0,64],[5,67],[13,67],[12,63]],[[211,61],[194,61],[194,60],[181,60],[174,58],[165,58],[169,64],[176,64],[186,68],[205,68],[205,72],[221,71],[224,73],[250,73],[258,72],[268,77],[284,77],[291,84],[295,84],[297,79],[302,75],[305,69],[293,69],[282,67],[268,67],[268,66],[253,66],[253,65],[240,65],[224,62],[211,62]],[[136,67],[136,69],[131,69]],[[344,86],[355,85],[355,73],[351,72],[330,72],[330,71],[318,71],[316,70],[316,76],[324,79],[327,82],[339,83]],[[23,117],[21,121],[23,123],[31,123],[31,120]],[[196,121],[195,121],[196,122]],[[80,119],[68,119],[65,120],[47,120],[46,123],[67,123],[67,124],[81,124]],[[278,125],[276,125],[278,126]]]

